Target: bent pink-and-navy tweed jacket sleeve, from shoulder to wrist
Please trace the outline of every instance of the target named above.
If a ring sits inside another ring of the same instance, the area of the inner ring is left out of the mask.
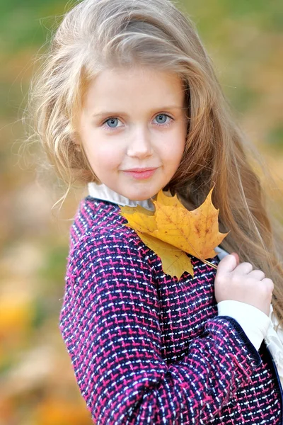
[[[85,237],[69,254],[59,327],[97,425],[207,423],[260,365],[230,317],[209,319],[183,360],[166,363],[152,274],[122,236]]]

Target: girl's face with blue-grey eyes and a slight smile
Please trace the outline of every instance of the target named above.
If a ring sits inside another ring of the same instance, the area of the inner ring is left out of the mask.
[[[79,123],[98,179],[131,200],[156,195],[183,156],[185,112],[185,91],[175,74],[147,68],[101,72],[88,88]]]

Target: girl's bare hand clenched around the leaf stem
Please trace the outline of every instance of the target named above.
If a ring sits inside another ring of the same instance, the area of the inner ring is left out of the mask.
[[[215,282],[216,301],[246,302],[270,314],[273,282],[261,270],[253,270],[250,263],[239,263],[238,254],[224,256],[217,266]]]

